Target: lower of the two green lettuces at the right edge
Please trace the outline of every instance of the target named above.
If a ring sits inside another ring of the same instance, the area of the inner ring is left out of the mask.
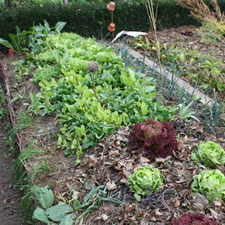
[[[194,193],[199,192],[210,202],[215,199],[225,201],[225,176],[220,170],[203,170],[193,177],[191,189]]]

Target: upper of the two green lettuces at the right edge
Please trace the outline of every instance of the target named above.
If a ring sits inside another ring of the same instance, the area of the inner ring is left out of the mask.
[[[225,151],[213,141],[202,142],[191,154],[191,159],[206,167],[215,168],[216,165],[225,164]]]

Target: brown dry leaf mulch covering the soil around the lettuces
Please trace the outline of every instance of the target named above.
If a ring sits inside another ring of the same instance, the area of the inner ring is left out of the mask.
[[[7,72],[10,74],[12,98],[16,95],[23,97],[14,102],[16,114],[26,112],[23,105],[29,102],[29,92],[38,91],[28,75],[22,80],[14,78],[10,58],[5,58]],[[24,88],[22,88],[24,87]],[[74,191],[78,199],[87,194],[92,188],[105,184],[108,195],[118,193],[117,198],[123,204],[103,202],[101,207],[92,211],[80,224],[141,224],[167,225],[183,213],[203,213],[215,218],[218,224],[225,221],[225,203],[220,200],[210,204],[200,195],[193,195],[190,185],[194,175],[206,169],[190,159],[192,150],[202,141],[215,141],[225,149],[224,128],[218,128],[216,135],[209,133],[204,123],[176,117],[171,125],[177,130],[179,147],[171,156],[149,160],[140,151],[131,154],[127,150],[129,127],[117,130],[110,137],[100,140],[95,148],[88,149],[83,155],[82,163],[75,165],[76,157],[66,157],[62,149],[57,147],[59,127],[57,118],[53,116],[34,117],[34,124],[23,129],[21,135],[25,148],[41,148],[43,154],[26,162],[29,171],[41,163],[47,162],[50,172],[38,173],[34,185],[52,188],[55,203],[71,199]],[[139,203],[130,192],[127,180],[139,166],[150,164],[159,168],[164,176],[164,186],[155,193],[149,193]],[[218,167],[225,174],[225,167]]]

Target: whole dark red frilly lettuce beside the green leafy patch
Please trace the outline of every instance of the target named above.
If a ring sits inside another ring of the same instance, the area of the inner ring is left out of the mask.
[[[166,157],[178,146],[176,130],[167,122],[147,119],[145,123],[136,123],[129,136],[128,150],[141,149],[150,159]]]

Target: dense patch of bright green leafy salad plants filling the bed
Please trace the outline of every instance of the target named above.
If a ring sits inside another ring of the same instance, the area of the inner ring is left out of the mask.
[[[94,74],[95,90],[87,68],[90,61],[99,65]],[[153,80],[126,68],[112,49],[93,39],[69,33],[49,36],[45,52],[33,56],[32,63],[38,67],[33,79],[39,82],[40,92],[30,94],[29,109],[34,114],[55,113],[59,117],[58,145],[67,155],[76,152],[77,163],[83,150],[116,128],[148,117],[172,119],[173,112],[156,99]],[[43,66],[46,63],[49,65]],[[47,68],[51,73],[44,78],[42,71]]]

